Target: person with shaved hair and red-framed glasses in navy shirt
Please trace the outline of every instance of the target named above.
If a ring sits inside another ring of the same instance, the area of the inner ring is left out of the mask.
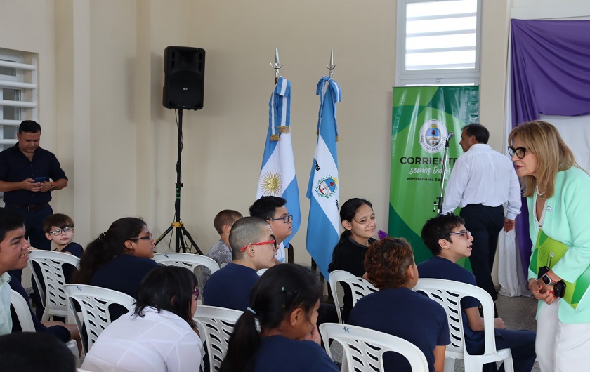
[[[203,305],[245,311],[256,272],[275,265],[277,239],[268,222],[258,217],[237,220],[230,232],[232,262],[214,272],[203,288]]]

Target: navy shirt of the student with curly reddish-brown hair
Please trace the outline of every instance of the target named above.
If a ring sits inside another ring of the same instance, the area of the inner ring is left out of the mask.
[[[438,303],[409,288],[388,288],[358,300],[349,323],[403,338],[416,345],[434,371],[434,348],[449,345],[447,313]],[[410,372],[401,354],[384,354],[385,371]]]

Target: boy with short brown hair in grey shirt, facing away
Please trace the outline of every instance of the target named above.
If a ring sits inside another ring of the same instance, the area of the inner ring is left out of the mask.
[[[232,209],[224,209],[217,213],[213,220],[215,230],[219,234],[217,243],[209,249],[206,256],[213,258],[218,265],[232,262],[232,248],[230,248],[230,232],[233,224],[242,218],[242,213]],[[201,289],[205,288],[205,283],[211,277],[211,270],[206,267],[201,267],[199,274],[199,285]]]

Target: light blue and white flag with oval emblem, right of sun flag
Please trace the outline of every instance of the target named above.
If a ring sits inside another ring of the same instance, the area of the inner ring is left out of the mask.
[[[328,279],[328,265],[340,237],[336,103],[342,96],[336,81],[329,77],[320,79],[315,94],[320,95],[320,114],[307,191],[310,206],[306,247]]]

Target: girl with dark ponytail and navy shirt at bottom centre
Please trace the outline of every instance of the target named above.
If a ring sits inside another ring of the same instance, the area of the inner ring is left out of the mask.
[[[322,285],[295,264],[270,267],[250,292],[220,372],[339,371],[320,346]]]

